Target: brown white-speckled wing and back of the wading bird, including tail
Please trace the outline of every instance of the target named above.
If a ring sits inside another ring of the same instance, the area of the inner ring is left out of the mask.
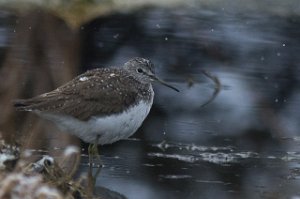
[[[93,115],[120,113],[138,100],[136,80],[124,70],[94,69],[49,93],[17,100],[24,111],[42,111],[70,115],[87,120]]]

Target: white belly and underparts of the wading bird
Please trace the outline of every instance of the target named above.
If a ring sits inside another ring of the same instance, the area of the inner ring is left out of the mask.
[[[38,113],[46,119],[53,121],[58,127],[78,136],[83,141],[94,143],[99,136],[98,143],[110,144],[120,139],[131,136],[147,117],[153,103],[140,101],[120,114],[105,117],[94,116],[88,121],[80,121],[69,116],[57,116],[54,114]]]

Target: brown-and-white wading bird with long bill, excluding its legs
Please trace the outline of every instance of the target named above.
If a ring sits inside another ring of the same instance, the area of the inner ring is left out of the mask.
[[[14,107],[37,114],[84,142],[112,144],[142,125],[153,104],[153,82],[179,92],[155,74],[150,60],[136,57],[121,67],[89,70],[53,91],[17,99]]]

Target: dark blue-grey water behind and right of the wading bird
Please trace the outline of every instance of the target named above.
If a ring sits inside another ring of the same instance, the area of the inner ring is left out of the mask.
[[[149,8],[96,19],[81,37],[82,71],[147,57],[181,91],[155,85],[139,131],[100,148],[97,187],[130,199],[300,198],[299,15]],[[222,84],[205,107],[215,85],[202,69]]]

